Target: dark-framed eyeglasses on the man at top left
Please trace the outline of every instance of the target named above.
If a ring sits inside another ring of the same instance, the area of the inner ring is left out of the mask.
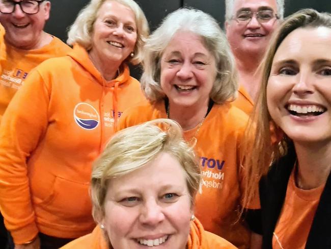
[[[39,6],[45,0],[23,0],[20,2],[14,2],[12,0],[1,0],[0,1],[0,12],[4,14],[13,13],[16,5],[19,5],[21,10],[26,14],[36,14],[39,12]]]

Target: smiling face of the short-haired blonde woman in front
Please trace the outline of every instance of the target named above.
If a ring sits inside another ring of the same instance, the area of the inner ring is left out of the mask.
[[[186,248],[192,215],[185,171],[170,154],[109,182],[101,223],[116,249]]]

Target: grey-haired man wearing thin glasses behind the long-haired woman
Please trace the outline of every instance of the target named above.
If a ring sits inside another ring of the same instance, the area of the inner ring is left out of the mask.
[[[284,0],[226,0],[225,29],[239,72],[234,103],[246,113],[252,111],[259,90],[256,70],[283,15]]]

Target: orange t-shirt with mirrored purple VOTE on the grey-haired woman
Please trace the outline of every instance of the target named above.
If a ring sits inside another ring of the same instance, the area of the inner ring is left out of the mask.
[[[122,116],[118,130],[156,118],[167,118],[164,101],[143,103]],[[240,210],[242,170],[239,147],[247,115],[231,104],[214,104],[196,135],[195,150],[203,173],[202,194],[196,197],[195,214],[206,231],[217,234],[239,248],[249,248],[250,231],[235,221]],[[189,141],[197,127],[184,132]],[[247,208],[259,208],[258,203]]]

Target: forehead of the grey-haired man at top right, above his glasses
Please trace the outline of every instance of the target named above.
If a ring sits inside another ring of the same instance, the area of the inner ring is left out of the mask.
[[[276,0],[234,0],[234,13],[238,11],[273,10],[277,12]]]

